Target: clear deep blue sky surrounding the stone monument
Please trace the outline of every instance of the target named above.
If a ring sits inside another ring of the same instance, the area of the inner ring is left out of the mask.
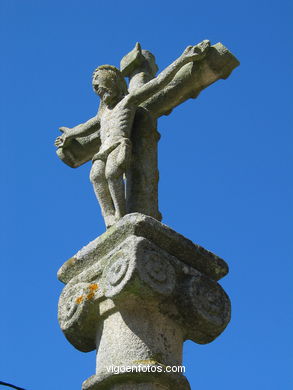
[[[95,354],[59,329],[56,272],[104,225],[90,165],[67,167],[53,146],[95,114],[93,69],[136,41],[163,69],[210,39],[241,66],[159,124],[163,222],[230,265],[232,321],[186,343],[186,375],[192,389],[289,389],[289,2],[1,0],[0,13],[0,380],[78,390],[94,374]]]

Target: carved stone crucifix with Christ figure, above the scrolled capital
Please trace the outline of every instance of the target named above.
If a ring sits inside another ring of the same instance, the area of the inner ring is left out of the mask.
[[[95,70],[97,115],[72,129],[61,127],[63,134],[55,145],[58,156],[71,167],[92,159],[90,179],[107,228],[133,212],[161,220],[157,119],[227,78],[238,65],[221,43],[210,46],[205,40],[188,46],[157,77],[154,56],[138,43],[122,59],[120,70],[111,65]]]

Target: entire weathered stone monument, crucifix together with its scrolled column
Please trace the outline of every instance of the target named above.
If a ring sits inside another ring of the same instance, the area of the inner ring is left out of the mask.
[[[120,70],[95,70],[96,117],[60,128],[58,156],[71,167],[93,161],[108,228],[58,272],[61,329],[78,350],[97,351],[83,390],[190,390],[173,370],[183,342],[209,343],[229,323],[218,284],[225,261],[160,222],[156,121],[238,64],[222,44],[203,41],[155,77],[154,56],[137,44]]]

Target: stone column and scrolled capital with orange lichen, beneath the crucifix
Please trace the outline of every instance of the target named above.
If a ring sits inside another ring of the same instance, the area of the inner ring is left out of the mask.
[[[81,249],[58,278],[62,331],[80,351],[97,350],[82,389],[190,389],[175,372],[183,342],[209,343],[227,326],[230,302],[217,283],[227,272],[222,259],[139,213]]]

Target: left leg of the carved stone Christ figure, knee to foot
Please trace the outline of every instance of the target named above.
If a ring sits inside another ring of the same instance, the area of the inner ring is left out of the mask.
[[[104,161],[94,161],[90,172],[90,180],[94,186],[94,191],[99,201],[106,227],[109,228],[115,223],[115,209],[108,182],[105,177],[105,167],[106,163]]]

